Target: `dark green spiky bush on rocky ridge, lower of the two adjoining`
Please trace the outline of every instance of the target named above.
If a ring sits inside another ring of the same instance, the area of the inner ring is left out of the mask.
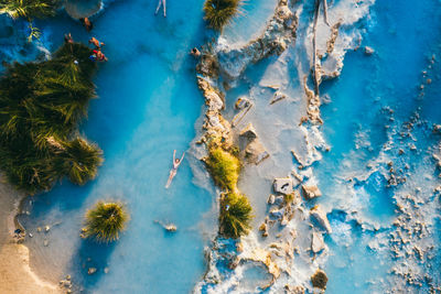
[[[220,233],[238,238],[250,229],[252,208],[245,195],[228,193],[220,199]]]

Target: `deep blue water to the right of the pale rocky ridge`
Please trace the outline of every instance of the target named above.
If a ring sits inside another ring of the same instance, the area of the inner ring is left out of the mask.
[[[437,57],[440,54],[440,2],[377,1],[370,15],[368,22],[359,25],[367,29],[363,45],[375,48],[375,54],[366,56],[362,50],[349,52],[341,77],[322,88],[332,99],[322,108],[323,130],[332,151],[324,155],[315,171],[324,195],[331,196],[326,203],[351,198],[345,196],[344,190],[338,190],[341,185],[335,183],[341,179],[337,176],[344,174],[347,179],[351,174],[368,171],[366,165],[379,155],[388,134],[394,133],[390,130],[399,130],[400,123],[408,121],[413,112],[418,111],[422,120],[429,121],[419,130],[423,135],[418,135],[417,146],[426,150],[439,140],[430,135],[431,124],[440,123],[438,62],[433,69],[429,69],[432,84],[426,85],[423,99],[419,97],[419,86],[426,81],[421,72],[427,69],[432,54]],[[389,108],[395,111],[396,121],[389,120]],[[386,124],[390,126],[390,130],[385,129]],[[398,149],[406,146],[406,142],[395,138],[395,146],[387,154],[396,159]],[[427,164],[423,154],[406,156],[397,168],[408,163],[411,171],[416,171],[415,166]],[[422,171],[417,178],[422,181]],[[385,229],[376,232],[364,230],[338,210],[329,215],[334,233],[326,240],[331,250],[325,266],[330,276],[326,292],[384,293],[384,287],[390,288],[387,279],[394,258],[385,250],[387,242],[377,250],[373,250],[369,242],[387,237],[391,229],[390,221],[396,209],[394,189],[387,188],[387,182],[378,173],[366,181],[359,179],[354,188],[355,198],[365,204],[358,217]],[[427,218],[431,219],[431,216]],[[428,273],[433,274],[432,271]],[[412,291],[409,287],[409,293]],[[428,290],[419,291],[427,293]]]

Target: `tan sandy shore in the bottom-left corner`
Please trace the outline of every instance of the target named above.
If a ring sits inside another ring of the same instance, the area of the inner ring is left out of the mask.
[[[42,281],[29,265],[29,249],[13,240],[14,215],[24,195],[0,182],[0,293],[53,294],[62,293]]]

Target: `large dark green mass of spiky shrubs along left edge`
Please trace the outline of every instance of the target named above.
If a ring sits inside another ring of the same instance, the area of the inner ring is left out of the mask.
[[[79,185],[96,176],[103,152],[77,130],[95,97],[89,54],[66,43],[51,61],[15,63],[0,78],[0,170],[17,188],[35,194],[65,176]]]

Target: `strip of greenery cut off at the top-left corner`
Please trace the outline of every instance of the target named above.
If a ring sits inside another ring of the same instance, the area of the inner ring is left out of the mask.
[[[0,14],[12,19],[43,19],[55,14],[58,0],[0,0]]]

